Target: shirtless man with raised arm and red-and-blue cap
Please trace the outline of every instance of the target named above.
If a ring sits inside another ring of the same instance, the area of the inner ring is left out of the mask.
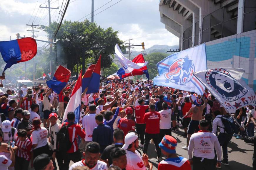
[[[201,106],[202,104],[202,100],[204,101],[204,105]],[[202,115],[203,115],[203,110],[204,108],[207,106],[207,101],[205,100],[204,97],[202,97],[202,100],[200,98],[197,98],[194,101],[194,104],[196,106],[192,107],[189,109],[189,111],[186,113],[186,116],[190,115],[192,113],[192,118],[191,121],[188,125],[188,131],[187,131],[187,146],[183,146],[182,149],[187,150],[188,149],[188,144],[189,144],[189,140],[191,135],[196,131],[199,130],[199,120],[202,119]]]

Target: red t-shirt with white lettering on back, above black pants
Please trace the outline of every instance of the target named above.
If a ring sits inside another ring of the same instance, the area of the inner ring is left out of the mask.
[[[160,113],[156,111],[145,113],[143,120],[146,123],[146,133],[160,133],[160,117]]]

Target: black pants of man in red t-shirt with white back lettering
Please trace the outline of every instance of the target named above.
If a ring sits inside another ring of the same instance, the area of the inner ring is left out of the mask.
[[[155,143],[155,146],[156,146],[156,149],[157,149],[157,157],[161,157],[161,149],[158,146],[158,144],[160,142],[160,140],[159,140],[159,133],[157,133],[157,134],[145,133],[145,144],[144,144],[144,147],[143,147],[143,153],[144,154],[147,153],[148,144],[149,144],[149,141],[151,139],[153,139],[153,141]]]

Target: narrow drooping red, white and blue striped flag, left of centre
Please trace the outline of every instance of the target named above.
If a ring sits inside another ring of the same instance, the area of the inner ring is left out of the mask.
[[[80,71],[77,82],[70,96],[69,103],[67,104],[67,107],[65,109],[65,112],[63,115],[63,122],[67,120],[67,114],[69,112],[75,113],[76,118],[74,123],[79,122],[81,98],[82,98],[82,71]]]

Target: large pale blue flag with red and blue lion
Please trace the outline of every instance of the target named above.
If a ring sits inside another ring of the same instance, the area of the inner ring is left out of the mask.
[[[176,52],[157,63],[159,76],[154,85],[203,94],[205,87],[195,78],[193,72],[207,69],[205,44]]]

